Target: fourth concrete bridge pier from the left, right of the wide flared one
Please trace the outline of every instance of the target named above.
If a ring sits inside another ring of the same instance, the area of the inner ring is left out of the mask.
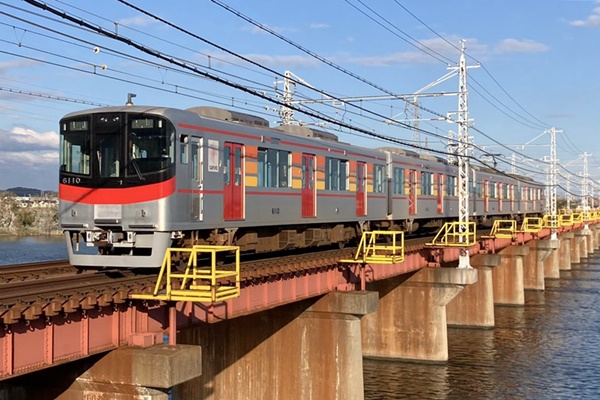
[[[446,306],[449,326],[493,328],[494,283],[492,269],[501,263],[498,254],[476,254],[471,266],[477,269],[477,282],[466,286]]]

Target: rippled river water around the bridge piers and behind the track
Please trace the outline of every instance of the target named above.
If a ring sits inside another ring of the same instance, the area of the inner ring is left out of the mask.
[[[63,240],[0,237],[0,265],[65,259]],[[365,399],[600,399],[600,255],[560,276],[494,329],[449,328],[447,363],[365,359]]]

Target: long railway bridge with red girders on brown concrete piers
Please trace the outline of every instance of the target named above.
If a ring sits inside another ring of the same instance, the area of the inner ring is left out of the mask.
[[[0,283],[1,393],[362,399],[363,357],[445,362],[448,325],[493,328],[494,305],[523,305],[525,290],[544,290],[600,243],[595,216],[553,229],[505,222],[458,245],[451,233],[394,236],[356,253],[245,262],[223,292],[195,299],[156,276],[12,276]],[[457,268],[465,251],[472,268]]]

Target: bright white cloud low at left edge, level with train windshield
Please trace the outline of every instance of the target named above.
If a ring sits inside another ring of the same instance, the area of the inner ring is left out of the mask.
[[[23,127],[0,130],[0,149],[3,156],[9,152],[57,150],[58,133],[38,133]]]

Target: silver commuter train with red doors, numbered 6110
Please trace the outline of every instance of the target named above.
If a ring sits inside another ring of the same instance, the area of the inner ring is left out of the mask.
[[[59,224],[80,267],[157,268],[169,247],[344,245],[458,216],[457,167],[214,107],[97,108],[60,121]],[[479,224],[542,212],[538,183],[473,167]],[[86,249],[87,247],[91,249]]]

